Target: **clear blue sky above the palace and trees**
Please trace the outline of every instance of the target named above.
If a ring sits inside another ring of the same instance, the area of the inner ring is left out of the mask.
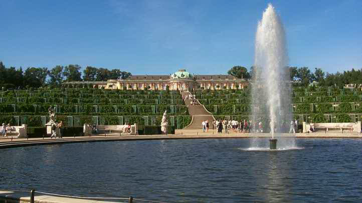
[[[285,27],[289,65],[362,68],[362,0],[0,0],[0,60],[226,73],[253,64],[269,2]]]

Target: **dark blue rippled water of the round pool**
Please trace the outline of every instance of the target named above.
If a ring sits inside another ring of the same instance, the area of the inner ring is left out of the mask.
[[[89,142],[0,149],[0,188],[167,202],[362,202],[362,139]]]

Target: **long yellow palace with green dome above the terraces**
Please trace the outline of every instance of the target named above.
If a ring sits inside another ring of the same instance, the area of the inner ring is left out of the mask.
[[[190,90],[203,89],[237,89],[248,86],[249,82],[229,74],[191,74],[186,69],[169,75],[130,75],[125,79],[107,81],[71,81],[63,82],[65,87],[93,87],[105,89],[152,89]]]

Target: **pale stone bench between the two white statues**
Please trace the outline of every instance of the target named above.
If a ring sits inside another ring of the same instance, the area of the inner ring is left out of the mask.
[[[124,131],[125,126],[128,125],[96,125],[97,132],[100,134],[107,134],[107,133],[120,133],[120,134],[138,134],[137,125],[131,125],[131,129],[127,132]],[[84,124],[83,132],[84,134],[92,134],[92,125]]]

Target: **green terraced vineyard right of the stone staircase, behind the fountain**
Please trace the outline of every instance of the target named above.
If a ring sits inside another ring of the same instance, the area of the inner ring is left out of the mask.
[[[251,91],[249,89],[198,90],[196,95],[217,119],[251,119]],[[294,88],[291,96],[290,108],[299,123],[311,120],[313,122],[354,122],[362,118],[360,88]]]

